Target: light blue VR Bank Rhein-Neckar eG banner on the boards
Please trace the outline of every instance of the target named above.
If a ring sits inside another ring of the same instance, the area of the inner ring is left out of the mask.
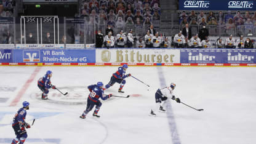
[[[15,63],[95,63],[95,49],[15,49]]]

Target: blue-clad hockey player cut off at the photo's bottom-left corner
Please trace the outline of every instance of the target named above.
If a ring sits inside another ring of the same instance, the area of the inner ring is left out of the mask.
[[[12,144],[16,144],[20,142],[19,144],[23,144],[28,137],[26,134],[26,129],[30,128],[30,124],[25,122],[26,119],[26,110],[29,110],[30,103],[23,102],[22,103],[23,108],[20,108],[18,112],[14,116],[14,120],[12,122],[12,128],[14,129],[16,138],[12,140]],[[26,129],[25,129],[26,128]]]

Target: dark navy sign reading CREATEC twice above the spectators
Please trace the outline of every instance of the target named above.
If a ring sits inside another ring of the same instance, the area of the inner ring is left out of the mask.
[[[180,0],[180,10],[256,10],[255,0]]]

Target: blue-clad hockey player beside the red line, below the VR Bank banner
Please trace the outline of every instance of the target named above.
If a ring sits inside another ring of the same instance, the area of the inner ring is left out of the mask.
[[[49,93],[48,89],[56,89],[55,86],[52,86],[50,78],[52,78],[52,71],[46,71],[46,74],[38,80],[38,87],[42,90],[43,100],[47,100],[47,94]]]

